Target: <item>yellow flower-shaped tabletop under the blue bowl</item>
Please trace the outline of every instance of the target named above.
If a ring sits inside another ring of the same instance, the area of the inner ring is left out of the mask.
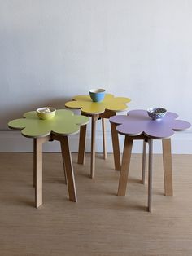
[[[129,98],[114,97],[114,95],[106,94],[102,102],[93,102],[89,95],[77,95],[65,104],[67,108],[81,108],[82,113],[101,114],[105,110],[120,112],[126,110],[127,103],[131,101]]]

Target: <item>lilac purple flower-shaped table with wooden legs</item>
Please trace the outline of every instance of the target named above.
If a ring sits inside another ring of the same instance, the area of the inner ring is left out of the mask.
[[[146,110],[133,110],[129,111],[127,116],[120,115],[110,118],[111,124],[116,125],[117,132],[121,135],[125,135],[118,196],[125,196],[134,139],[144,140],[142,158],[143,183],[145,180],[146,142],[149,143],[148,210],[151,211],[153,139],[162,139],[165,195],[172,196],[172,155],[170,137],[174,134],[174,131],[185,130],[190,127],[189,122],[176,120],[177,117],[176,113],[168,112],[162,120],[152,120]]]

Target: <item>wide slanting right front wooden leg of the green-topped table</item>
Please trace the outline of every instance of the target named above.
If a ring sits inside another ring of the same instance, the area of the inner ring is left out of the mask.
[[[73,167],[72,167],[72,156],[71,152],[69,150],[68,145],[68,136],[63,136],[60,139],[61,148],[62,148],[62,154],[63,154],[63,160],[64,160],[64,166],[65,166],[65,172],[66,172],[66,179],[68,184],[68,195],[70,201],[77,201],[76,199],[76,184],[73,174]]]

